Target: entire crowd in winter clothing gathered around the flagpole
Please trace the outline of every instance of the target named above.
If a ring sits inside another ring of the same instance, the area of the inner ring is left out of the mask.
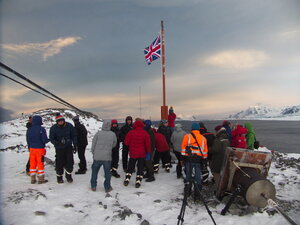
[[[175,124],[176,114],[169,109],[168,120],[161,120],[158,129],[152,126],[151,120],[136,118],[133,121],[127,116],[125,124],[119,128],[117,120],[104,120],[102,129],[92,139],[91,152],[93,154],[91,190],[96,191],[98,173],[103,166],[104,189],[112,190],[111,176],[120,178],[118,173],[119,150],[122,149],[122,166],[125,172],[124,186],[130,183],[132,174],[136,172],[135,187],[141,186],[142,180],[155,181],[155,174],[159,172],[160,161],[162,168],[169,173],[171,152],[177,158],[176,175],[183,177],[185,183],[194,179],[198,190],[203,182],[207,182],[209,175],[207,167],[217,183],[227,147],[253,149],[255,133],[250,123],[245,127],[236,125],[231,127],[229,121],[215,127],[215,133],[207,131],[204,123],[193,123],[191,132],[183,130],[180,123]],[[74,126],[65,121],[62,115],[56,116],[56,124],[50,129],[49,138],[42,125],[40,116],[33,116],[32,125],[27,130],[27,143],[30,149],[31,183],[45,183],[43,157],[45,144],[49,141],[56,151],[57,182],[63,183],[63,174],[68,182],[72,182],[74,165],[73,154],[78,152],[80,159],[79,170],[76,174],[85,174],[86,159],[84,156],[87,146],[87,130],[79,122],[79,117],[73,118]],[[184,168],[184,169],[183,169]],[[192,172],[194,171],[194,173]],[[192,174],[194,176],[192,177]],[[195,193],[197,194],[197,193]]]

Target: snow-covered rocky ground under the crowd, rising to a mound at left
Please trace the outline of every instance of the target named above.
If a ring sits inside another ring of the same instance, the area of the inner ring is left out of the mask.
[[[47,109],[33,114],[41,115],[49,133],[55,123],[55,114],[60,112],[71,123],[75,116],[72,110]],[[72,184],[57,184],[53,165],[55,150],[47,144],[45,175],[46,184],[30,184],[25,174],[28,160],[26,146],[26,122],[28,115],[0,124],[1,159],[1,209],[0,224],[51,224],[51,225],[164,225],[177,224],[183,199],[183,180],[176,178],[176,166],[171,173],[160,168],[156,181],[142,181],[139,189],[134,187],[135,174],[128,187],[123,186],[125,173],[119,169],[121,178],[112,177],[113,191],[104,192],[103,169],[98,175],[96,192],[90,190],[92,154],[91,140],[102,126],[101,120],[93,115],[80,114],[80,121],[88,130],[89,145],[86,151],[88,171],[85,175],[73,175]],[[260,148],[260,151],[268,151]],[[121,151],[120,162],[121,164]],[[78,169],[78,157],[74,155],[74,170]],[[276,187],[276,202],[295,221],[300,221],[300,154],[274,154],[268,179]],[[120,166],[121,167],[121,166]],[[209,179],[212,179],[210,175]],[[227,199],[219,201],[214,197],[212,182],[203,186],[202,194],[212,211],[216,224],[287,224],[278,213],[258,210],[248,205],[234,203],[226,216],[220,214]],[[239,202],[239,201],[238,201]],[[2,218],[1,218],[2,215]],[[202,202],[188,199],[183,224],[213,224]]]

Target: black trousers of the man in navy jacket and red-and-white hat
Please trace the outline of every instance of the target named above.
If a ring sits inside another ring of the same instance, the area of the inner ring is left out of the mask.
[[[64,174],[64,169],[68,173],[72,173],[74,166],[74,158],[73,158],[73,148],[72,146],[63,148],[63,149],[55,149],[56,153],[56,173],[61,176]]]

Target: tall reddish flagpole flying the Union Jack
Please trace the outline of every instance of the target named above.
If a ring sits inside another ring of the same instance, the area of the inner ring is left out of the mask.
[[[163,82],[163,105],[161,107],[161,119],[168,119],[168,106],[166,105],[166,61],[165,61],[165,33],[164,21],[161,21],[161,68]]]

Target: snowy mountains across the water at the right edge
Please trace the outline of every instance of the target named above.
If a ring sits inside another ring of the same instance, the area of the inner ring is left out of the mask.
[[[263,104],[250,106],[245,110],[232,114],[228,119],[276,119],[299,120],[300,105],[274,108]]]

